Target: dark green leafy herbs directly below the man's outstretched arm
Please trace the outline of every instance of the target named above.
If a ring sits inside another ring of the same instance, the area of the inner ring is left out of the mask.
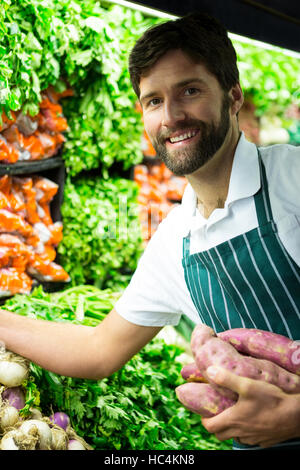
[[[180,403],[176,346],[153,340],[120,371],[100,381],[57,376],[33,366],[46,413],[64,410],[96,449],[230,449]]]

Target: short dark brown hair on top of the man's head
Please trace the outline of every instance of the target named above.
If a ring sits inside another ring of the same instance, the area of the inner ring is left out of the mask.
[[[129,56],[129,73],[138,97],[141,77],[172,49],[181,49],[195,63],[203,63],[224,91],[239,81],[236,52],[224,26],[206,14],[190,13],[149,28],[136,42]]]

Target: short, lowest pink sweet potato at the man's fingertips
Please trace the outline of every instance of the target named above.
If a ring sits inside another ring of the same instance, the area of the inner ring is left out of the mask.
[[[190,411],[211,418],[234,405],[235,399],[222,394],[214,385],[188,382],[175,389],[178,400]]]

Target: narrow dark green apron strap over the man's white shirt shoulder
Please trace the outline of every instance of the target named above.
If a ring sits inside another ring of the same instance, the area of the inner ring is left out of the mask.
[[[257,148],[258,163],[260,170],[260,181],[261,189],[255,194],[254,202],[256,207],[256,214],[258,219],[258,225],[262,226],[273,220],[272,209],[270,204],[268,181],[266,176],[266,170],[262,162],[261,153]]]

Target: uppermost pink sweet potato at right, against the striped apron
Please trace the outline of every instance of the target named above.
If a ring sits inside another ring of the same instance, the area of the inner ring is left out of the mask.
[[[243,354],[267,359],[300,375],[300,342],[270,331],[254,328],[234,328],[218,334]]]

